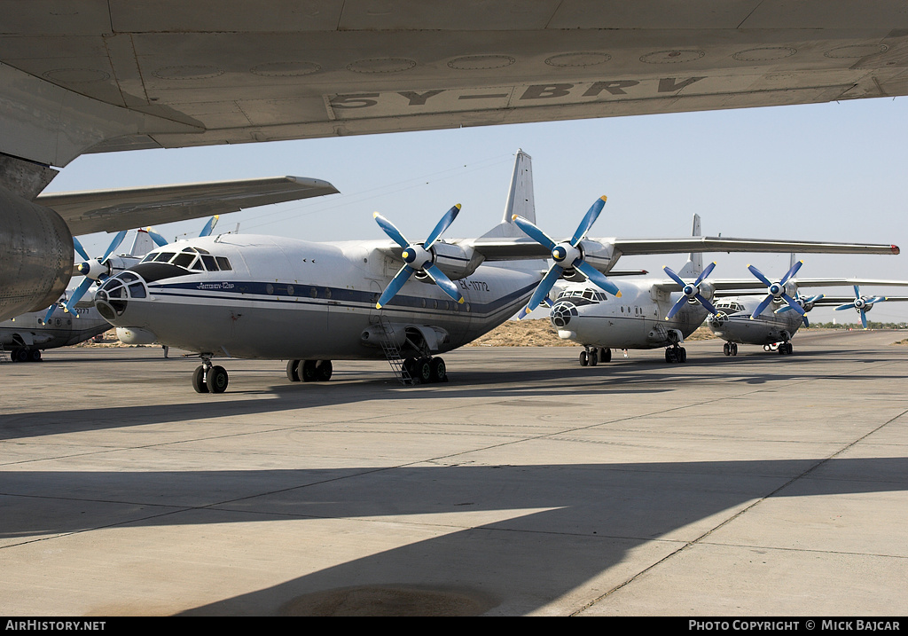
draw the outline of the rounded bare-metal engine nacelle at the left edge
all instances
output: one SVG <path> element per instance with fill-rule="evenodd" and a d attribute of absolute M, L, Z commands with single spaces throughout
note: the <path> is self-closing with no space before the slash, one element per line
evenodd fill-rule
<path fill-rule="evenodd" d="M 59 214 L 0 188 L 0 320 L 56 303 L 72 277 L 73 253 Z"/>

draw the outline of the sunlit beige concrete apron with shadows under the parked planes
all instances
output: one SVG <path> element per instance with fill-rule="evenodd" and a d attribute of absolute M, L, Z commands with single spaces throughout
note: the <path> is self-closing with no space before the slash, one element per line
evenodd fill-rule
<path fill-rule="evenodd" d="M 905 335 L 0 364 L 0 615 L 904 615 Z"/>

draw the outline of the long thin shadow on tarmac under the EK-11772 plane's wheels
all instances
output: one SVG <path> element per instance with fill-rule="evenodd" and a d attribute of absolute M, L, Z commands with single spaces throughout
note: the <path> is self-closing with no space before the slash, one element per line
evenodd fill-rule
<path fill-rule="evenodd" d="M 767 354 L 768 355 L 768 354 Z M 785 360 L 789 356 L 778 356 Z M 775 362 L 775 358 L 773 359 Z M 881 358 L 879 362 L 893 362 Z M 5 415 L 0 426 L 0 441 L 26 437 L 72 433 L 80 431 L 97 431 L 104 428 L 123 428 L 143 426 L 166 422 L 190 422 L 216 417 L 240 417 L 244 415 L 266 414 L 271 412 L 292 411 L 301 408 L 324 406 L 342 406 L 357 402 L 400 400 L 431 401 L 434 399 L 476 398 L 478 393 L 491 399 L 535 399 L 550 398 L 561 400 L 570 394 L 573 400 L 580 400 L 586 395 L 607 393 L 669 393 L 678 388 L 702 387 L 709 383 L 791 383 L 804 382 L 821 378 L 836 377 L 847 383 L 854 383 L 847 393 L 857 393 L 863 385 L 869 386 L 876 380 L 891 379 L 881 374 L 861 373 L 860 375 L 845 372 L 812 373 L 803 366 L 785 366 L 773 363 L 767 370 L 761 366 L 746 364 L 735 366 L 735 373 L 730 373 L 728 363 L 723 360 L 716 363 L 686 363 L 684 368 L 668 366 L 656 360 L 643 360 L 635 363 L 617 363 L 611 367 L 602 367 L 600 373 L 595 368 L 568 367 L 565 369 L 508 369 L 477 371 L 468 369 L 463 372 L 449 372 L 451 380 L 444 384 L 403 387 L 390 377 L 390 372 L 382 370 L 376 373 L 350 373 L 345 380 L 344 373 L 338 373 L 337 379 L 330 383 L 285 383 L 271 385 L 267 389 L 243 390 L 243 384 L 252 384 L 243 380 L 242 370 L 236 373 L 234 384 L 240 388 L 230 389 L 230 393 L 218 396 L 203 395 L 193 402 L 166 404 L 146 403 L 142 405 L 115 406 L 104 405 L 97 408 L 72 408 L 61 411 L 18 412 Z M 853 371 L 853 370 L 852 370 Z M 250 374 L 248 377 L 252 377 Z M 255 375 L 261 375 L 256 372 Z M 260 384 L 261 385 L 261 384 Z M 187 395 L 190 394 L 187 389 Z M 194 395 L 194 393 L 192 393 Z M 793 394 L 796 397 L 796 394 Z M 276 398 L 276 399 L 275 399 Z"/>

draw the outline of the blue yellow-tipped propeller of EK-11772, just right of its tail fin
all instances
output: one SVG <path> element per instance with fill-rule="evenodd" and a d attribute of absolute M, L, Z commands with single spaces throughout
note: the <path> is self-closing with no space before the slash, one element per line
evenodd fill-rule
<path fill-rule="evenodd" d="M 539 304 L 546 299 L 548 292 L 551 291 L 552 286 L 558 281 L 561 275 L 565 273 L 565 270 L 571 268 L 579 270 L 603 291 L 611 293 L 617 298 L 621 297 L 621 292 L 618 291 L 617 286 L 609 281 L 604 273 L 599 272 L 595 267 L 584 260 L 583 250 L 580 246 L 583 239 L 587 237 L 589 229 L 596 223 L 596 219 L 598 218 L 599 213 L 602 212 L 602 208 L 605 204 L 606 197 L 600 196 L 596 200 L 596 203 L 589 208 L 587 215 L 583 217 L 580 224 L 577 225 L 577 232 L 574 233 L 574 236 L 571 237 L 570 241 L 564 241 L 562 243 L 556 243 L 550 239 L 548 234 L 522 216 L 515 214 L 512 217 L 514 223 L 517 224 L 521 230 L 552 253 L 552 259 L 555 261 L 548 269 L 546 275 L 542 277 L 542 281 L 530 297 L 529 303 L 527 303 L 527 307 L 524 310 L 526 313 L 536 309 Z M 524 313 L 524 315 L 526 315 L 526 313 Z"/>

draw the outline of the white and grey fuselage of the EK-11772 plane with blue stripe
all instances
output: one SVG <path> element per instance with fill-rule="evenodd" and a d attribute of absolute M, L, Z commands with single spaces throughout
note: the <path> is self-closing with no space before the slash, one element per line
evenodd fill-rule
<path fill-rule="evenodd" d="M 239 358 L 381 358 L 382 323 L 404 354 L 419 353 L 408 351 L 411 343 L 444 353 L 508 320 L 541 277 L 527 263 L 480 265 L 456 281 L 464 297 L 459 304 L 414 276 L 377 309 L 400 268 L 380 247 L 387 243 L 240 234 L 180 241 L 108 280 L 95 303 L 124 342 Z M 188 269 L 196 253 L 210 254 L 219 268 Z M 185 266 L 155 260 L 179 254 L 186 254 Z"/>

